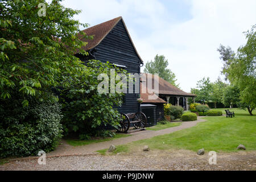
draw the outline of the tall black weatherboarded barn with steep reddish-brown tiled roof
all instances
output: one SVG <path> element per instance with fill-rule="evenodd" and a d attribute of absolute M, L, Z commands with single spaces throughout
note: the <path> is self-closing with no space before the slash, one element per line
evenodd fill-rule
<path fill-rule="evenodd" d="M 121 16 L 90 27 L 84 32 L 87 35 L 93 35 L 94 39 L 85 40 L 85 42 L 88 42 L 85 50 L 90 52 L 91 57 L 79 56 L 81 60 L 96 59 L 104 63 L 109 61 L 113 64 L 125 66 L 123 69 L 126 69 L 128 73 L 140 73 L 140 66 L 143 62 L 130 39 L 129 32 Z M 135 94 L 135 89 L 133 93 L 127 93 L 125 104 L 119 107 L 118 111 L 121 113 L 139 112 L 138 97 L 139 95 Z"/>

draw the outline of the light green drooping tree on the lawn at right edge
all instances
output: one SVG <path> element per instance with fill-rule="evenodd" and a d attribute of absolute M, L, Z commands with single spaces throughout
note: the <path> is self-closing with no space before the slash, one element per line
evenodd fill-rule
<path fill-rule="evenodd" d="M 247 43 L 238 48 L 234 59 L 229 59 L 224 74 L 240 89 L 241 106 L 250 115 L 256 107 L 256 24 L 245 32 Z"/>

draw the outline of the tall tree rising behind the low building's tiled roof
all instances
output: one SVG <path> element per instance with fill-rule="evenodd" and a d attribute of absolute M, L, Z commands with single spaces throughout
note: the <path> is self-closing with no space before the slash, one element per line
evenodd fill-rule
<path fill-rule="evenodd" d="M 163 78 L 164 80 L 170 82 L 172 85 L 179 87 L 179 84 L 176 84 L 176 76 L 171 71 L 171 69 L 167 68 L 168 60 L 164 55 L 156 55 L 154 61 L 147 62 L 145 65 L 144 72 L 155 74 L 158 73 L 159 77 Z"/>

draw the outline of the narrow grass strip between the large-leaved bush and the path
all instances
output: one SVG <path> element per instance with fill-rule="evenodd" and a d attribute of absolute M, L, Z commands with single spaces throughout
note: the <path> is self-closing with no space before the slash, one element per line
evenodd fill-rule
<path fill-rule="evenodd" d="M 114 140 L 117 138 L 130 137 L 130 136 L 131 135 L 128 135 L 128 134 L 117 133 L 113 138 L 105 137 L 105 138 L 98 138 L 98 139 L 92 139 L 92 140 L 66 139 L 66 142 L 71 146 L 84 146 L 86 144 L 105 142 L 105 141 Z"/>

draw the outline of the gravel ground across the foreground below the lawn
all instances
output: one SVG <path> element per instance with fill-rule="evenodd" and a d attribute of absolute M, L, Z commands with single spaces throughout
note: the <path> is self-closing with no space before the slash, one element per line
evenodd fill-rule
<path fill-rule="evenodd" d="M 149 151 L 119 155 L 60 156 L 47 158 L 46 165 L 36 159 L 17 160 L 0 166 L 0 170 L 256 170 L 256 151 L 217 154 L 217 164 L 209 156 L 196 152 Z"/>

